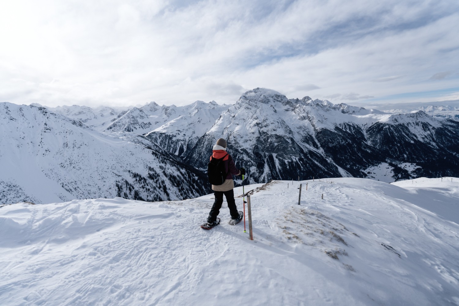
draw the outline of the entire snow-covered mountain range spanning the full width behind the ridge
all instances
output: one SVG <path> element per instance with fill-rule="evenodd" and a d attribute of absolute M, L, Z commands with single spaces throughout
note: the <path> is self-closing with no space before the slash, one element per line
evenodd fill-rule
<path fill-rule="evenodd" d="M 0 203 L 203 195 L 210 188 L 208 156 L 220 137 L 251 184 L 459 176 L 459 122 L 450 117 L 288 99 L 261 88 L 232 106 L 151 102 L 121 110 L 5 102 L 0 132 Z"/>

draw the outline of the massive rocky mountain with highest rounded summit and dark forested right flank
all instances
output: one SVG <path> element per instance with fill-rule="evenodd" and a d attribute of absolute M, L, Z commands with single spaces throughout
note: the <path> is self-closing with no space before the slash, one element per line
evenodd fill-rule
<path fill-rule="evenodd" d="M 384 113 L 254 89 L 183 153 L 185 160 L 204 169 L 201 156 L 220 136 L 238 165 L 249 169 L 252 183 L 336 176 L 393 181 L 459 172 L 459 122 L 424 111 Z"/>

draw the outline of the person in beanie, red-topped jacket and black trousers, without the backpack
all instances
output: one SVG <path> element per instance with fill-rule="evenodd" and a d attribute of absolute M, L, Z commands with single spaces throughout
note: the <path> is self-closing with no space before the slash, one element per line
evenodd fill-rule
<path fill-rule="evenodd" d="M 212 209 L 210 210 L 209 217 L 207 217 L 207 223 L 209 225 L 215 225 L 217 223 L 217 216 L 220 212 L 220 208 L 223 204 L 223 195 L 226 198 L 228 203 L 229 213 L 231 214 L 231 219 L 240 221 L 243 216 L 239 214 L 236 207 L 236 202 L 234 200 L 234 181 L 233 175 L 244 175 L 246 170 L 241 168 L 238 170 L 236 165 L 231 158 L 231 156 L 226 152 L 226 140 L 220 138 L 217 140 L 217 143 L 213 146 L 213 152 L 211 159 L 213 158 L 222 158 L 224 162 L 224 167 L 226 173 L 226 179 L 221 185 L 212 185 L 212 190 L 215 195 L 215 202 L 213 203 Z"/>

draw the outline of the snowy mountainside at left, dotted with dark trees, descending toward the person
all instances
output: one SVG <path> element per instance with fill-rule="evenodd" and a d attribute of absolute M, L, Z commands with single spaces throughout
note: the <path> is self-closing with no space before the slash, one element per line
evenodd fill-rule
<path fill-rule="evenodd" d="M 3 204 L 178 200 L 202 195 L 205 184 L 201 172 L 146 139 L 113 136 L 44 107 L 6 102 L 0 103 L 0 169 Z"/>

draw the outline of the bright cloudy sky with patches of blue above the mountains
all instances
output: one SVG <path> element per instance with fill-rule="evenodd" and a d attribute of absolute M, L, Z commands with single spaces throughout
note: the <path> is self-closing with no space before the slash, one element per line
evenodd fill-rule
<path fill-rule="evenodd" d="M 0 101 L 459 100 L 458 29 L 458 0 L 1 1 Z"/>

